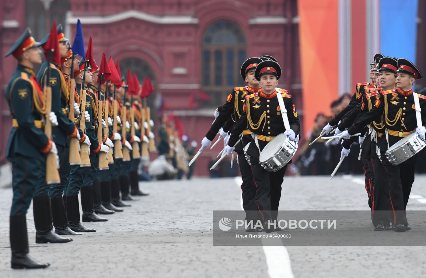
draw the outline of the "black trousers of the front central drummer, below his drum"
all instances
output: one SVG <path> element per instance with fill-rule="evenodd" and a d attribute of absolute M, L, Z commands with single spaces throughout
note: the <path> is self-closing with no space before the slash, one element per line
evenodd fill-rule
<path fill-rule="evenodd" d="M 279 200 L 281 199 L 281 186 L 287 165 L 276 172 L 268 172 L 259 164 L 259 160 L 256 158 L 251 157 L 250 162 L 251 172 L 253 173 L 253 179 L 256 185 L 256 196 L 254 200 L 258 206 L 261 220 L 265 221 L 269 218 L 276 220 L 278 216 Z M 269 213 L 271 213 L 271 215 Z"/>

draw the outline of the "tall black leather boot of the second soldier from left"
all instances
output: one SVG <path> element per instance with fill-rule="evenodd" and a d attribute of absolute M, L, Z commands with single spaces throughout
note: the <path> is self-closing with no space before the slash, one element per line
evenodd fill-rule
<path fill-rule="evenodd" d="M 35 196 L 32 198 L 34 212 L 35 243 L 66 243 L 71 238 L 62 238 L 52 232 L 52 214 L 50 212 L 49 195 Z"/>

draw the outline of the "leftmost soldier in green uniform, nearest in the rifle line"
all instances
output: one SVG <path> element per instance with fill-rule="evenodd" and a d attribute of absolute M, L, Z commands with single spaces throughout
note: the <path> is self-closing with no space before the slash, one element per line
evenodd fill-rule
<path fill-rule="evenodd" d="M 42 129 L 46 111 L 43 93 L 32 69 L 33 65 L 42 62 L 42 52 L 38 46 L 39 43 L 27 28 L 6 54 L 6 57 L 12 54 L 18 61 L 6 88 L 6 101 L 12 115 L 6 158 L 12 162 L 13 199 L 9 237 L 12 249 L 11 266 L 14 269 L 49 266 L 28 255 L 26 227 L 26 212 L 35 190 L 46 183 L 46 154 L 58 153 L 55 143 Z M 53 116 L 55 117 L 54 113 Z M 52 122 L 54 120 L 51 118 Z"/>

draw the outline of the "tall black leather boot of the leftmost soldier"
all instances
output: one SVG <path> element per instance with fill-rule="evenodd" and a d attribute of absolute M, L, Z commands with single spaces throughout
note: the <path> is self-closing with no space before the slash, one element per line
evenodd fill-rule
<path fill-rule="evenodd" d="M 9 225 L 10 248 L 12 249 L 11 267 L 13 269 L 49 267 L 50 264 L 40 263 L 28 255 L 28 234 L 25 214 L 11 215 Z"/>

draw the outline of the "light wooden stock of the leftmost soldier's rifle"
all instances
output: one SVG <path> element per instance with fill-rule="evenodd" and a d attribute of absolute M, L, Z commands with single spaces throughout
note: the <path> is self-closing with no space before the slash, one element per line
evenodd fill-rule
<path fill-rule="evenodd" d="M 46 124 L 44 126 L 44 134 L 52 140 L 52 123 L 49 120 L 49 114 L 52 112 L 52 88 L 44 86 L 43 91 L 46 96 Z M 46 183 L 60 183 L 56 155 L 52 152 L 49 152 L 46 158 Z"/>

